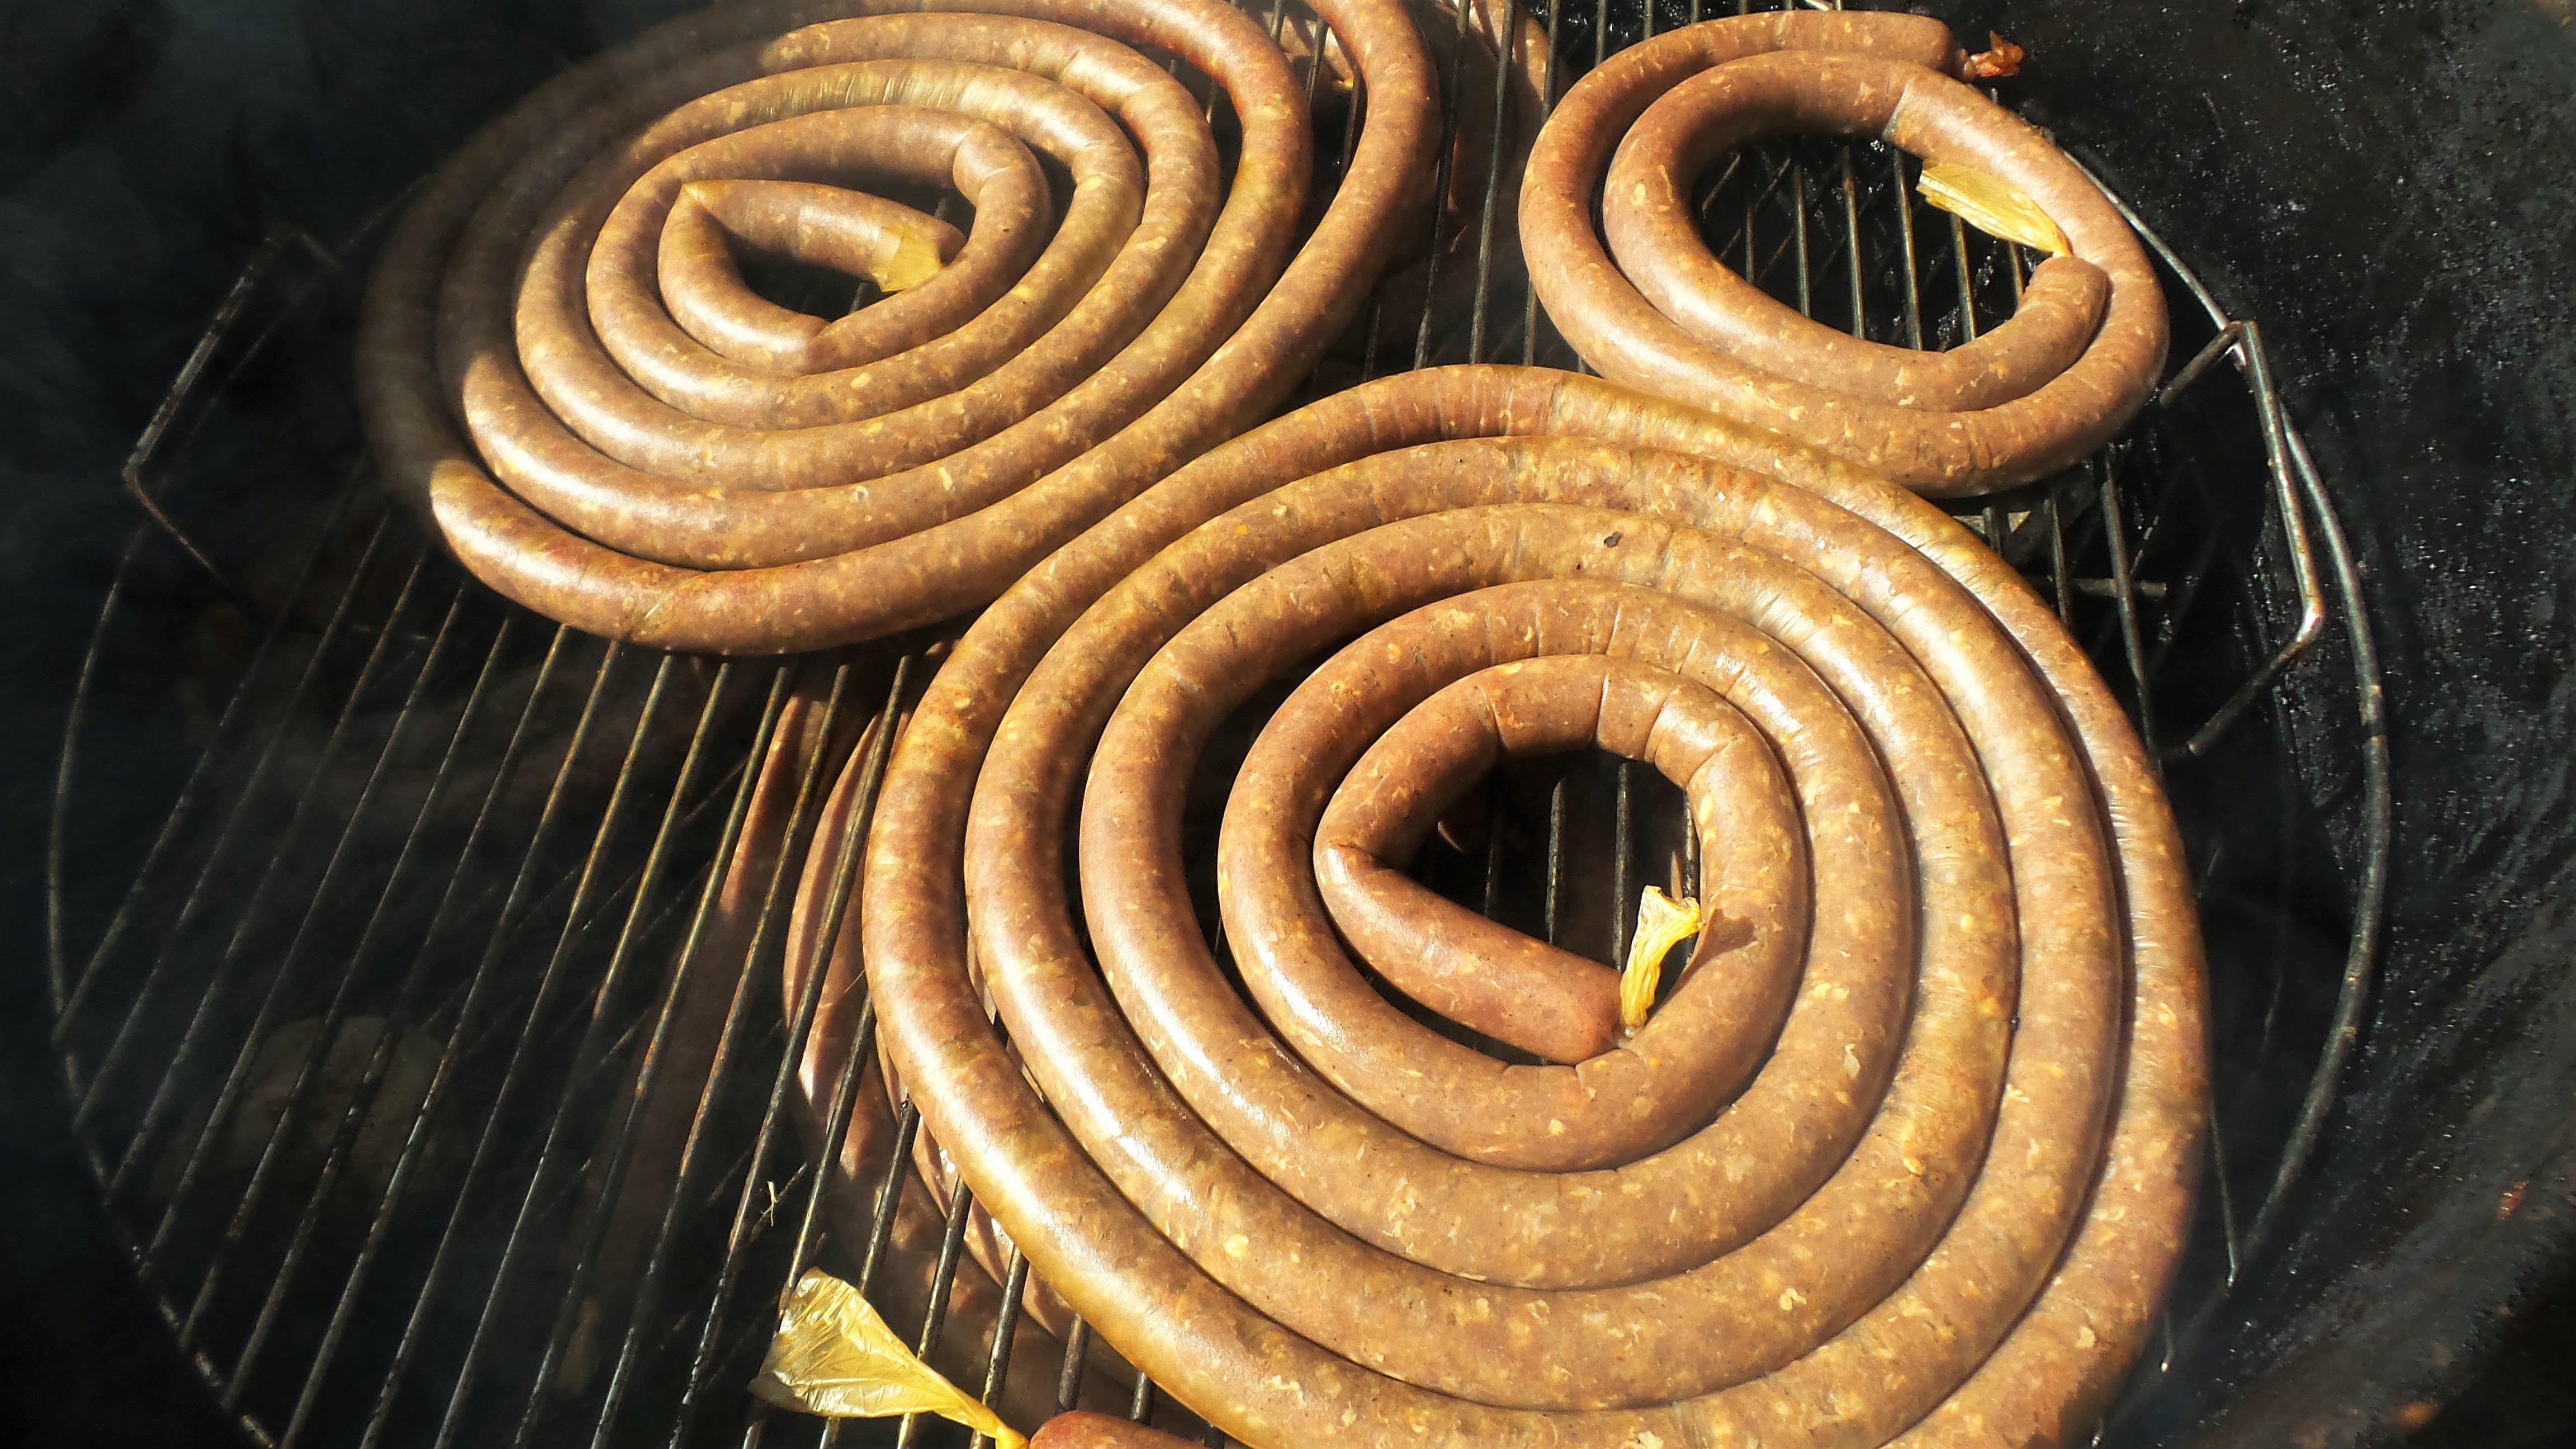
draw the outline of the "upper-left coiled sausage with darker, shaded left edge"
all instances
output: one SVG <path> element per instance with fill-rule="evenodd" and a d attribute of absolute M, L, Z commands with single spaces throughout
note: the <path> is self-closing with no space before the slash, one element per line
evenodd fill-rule
<path fill-rule="evenodd" d="M 755 0 L 567 72 L 386 240 L 358 384 L 389 487 L 500 593 L 618 639 L 783 652 L 984 603 L 1358 312 L 1437 83 L 1399 0 L 1316 13 L 1370 103 L 1303 248 L 1306 93 L 1221 0 Z M 1231 178 L 1208 103 L 1131 46 L 1224 93 Z M 801 315 L 737 253 L 886 297 Z"/>

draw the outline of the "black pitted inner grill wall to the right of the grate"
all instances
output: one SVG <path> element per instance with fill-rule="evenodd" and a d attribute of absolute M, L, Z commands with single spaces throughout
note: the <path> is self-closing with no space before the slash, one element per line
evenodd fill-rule
<path fill-rule="evenodd" d="M 2365 567 L 2396 758 L 2378 1000 L 2257 1330 L 2174 1374 L 2195 1413 L 2239 1400 L 2213 1444 L 2342 1444 L 2447 1397 L 2576 1235 L 2571 5 L 1924 8 L 2027 44 L 2032 119 L 2262 317 Z M 2290 712 L 2352 859 L 2342 717 Z M 2561 1364 L 2563 1318 L 2532 1346 Z"/>

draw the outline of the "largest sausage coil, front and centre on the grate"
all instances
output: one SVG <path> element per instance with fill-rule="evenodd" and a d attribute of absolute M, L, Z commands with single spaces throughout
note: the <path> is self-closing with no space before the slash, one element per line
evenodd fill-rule
<path fill-rule="evenodd" d="M 1314 657 L 1224 812 L 1236 987 L 1182 786 Z M 1685 789 L 1713 926 L 1641 1031 L 1504 1065 L 1352 951 L 1597 972 L 1391 869 L 1577 745 Z M 2110 691 L 1932 505 L 1607 382 L 1394 376 L 1164 480 L 963 634 L 866 851 L 925 1132 L 1260 1449 L 2069 1441 L 2182 1245 L 2200 938 Z"/>

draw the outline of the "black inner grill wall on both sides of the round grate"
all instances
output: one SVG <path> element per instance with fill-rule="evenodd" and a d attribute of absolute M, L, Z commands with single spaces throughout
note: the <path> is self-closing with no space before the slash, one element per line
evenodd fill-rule
<path fill-rule="evenodd" d="M 265 224 L 348 229 L 670 8 L 0 5 L 0 1439 L 222 1441 L 88 1217 L 44 1060 L 44 776 L 131 521 L 116 462 Z M 2030 46 L 2027 111 L 2264 322 L 2362 557 L 2398 781 L 2380 987 L 2249 1328 L 2156 1410 L 2177 1441 L 2385 1439 L 2499 1343 L 2566 1356 L 2566 1312 L 2517 1325 L 2576 1238 L 2576 26 L 2566 0 L 1922 8 Z M 2349 869 L 2339 650 L 2280 709 Z M 2483 1382 L 2566 1395 L 2514 1361 Z M 2566 1431 L 2481 1413 L 2429 1434 Z"/>

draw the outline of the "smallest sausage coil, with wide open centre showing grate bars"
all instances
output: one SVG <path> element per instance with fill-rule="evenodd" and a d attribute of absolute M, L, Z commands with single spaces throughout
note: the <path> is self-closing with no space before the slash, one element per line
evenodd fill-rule
<path fill-rule="evenodd" d="M 1520 237 L 1548 320 L 1602 376 L 1937 498 L 2092 454 L 2156 389 L 2164 297 L 2110 199 L 2048 137 L 1955 80 L 1963 64 L 1940 21 L 1860 10 L 1734 15 L 1618 52 L 1530 150 Z M 2012 320 L 1945 353 L 1803 317 L 1708 253 L 1690 196 L 1741 144 L 1814 131 L 1994 175 L 2071 250 L 2032 271 Z"/>

